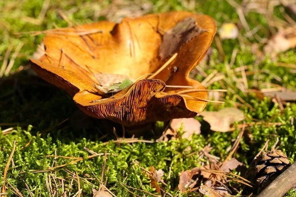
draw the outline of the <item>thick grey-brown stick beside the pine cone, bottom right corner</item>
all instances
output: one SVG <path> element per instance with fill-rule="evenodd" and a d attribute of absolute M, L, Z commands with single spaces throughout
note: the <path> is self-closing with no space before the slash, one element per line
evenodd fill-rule
<path fill-rule="evenodd" d="M 296 185 L 296 162 L 272 181 L 258 197 L 282 197 Z"/>

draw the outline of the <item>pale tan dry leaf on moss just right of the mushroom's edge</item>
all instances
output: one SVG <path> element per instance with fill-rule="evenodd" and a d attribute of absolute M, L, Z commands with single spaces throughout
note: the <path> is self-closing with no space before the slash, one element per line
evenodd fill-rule
<path fill-rule="evenodd" d="M 234 107 L 226 107 L 219 111 L 204 111 L 200 115 L 210 124 L 212 131 L 220 132 L 229 131 L 234 122 L 245 119 L 244 112 Z"/>

